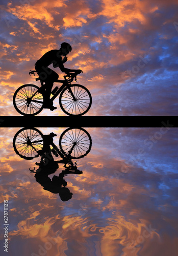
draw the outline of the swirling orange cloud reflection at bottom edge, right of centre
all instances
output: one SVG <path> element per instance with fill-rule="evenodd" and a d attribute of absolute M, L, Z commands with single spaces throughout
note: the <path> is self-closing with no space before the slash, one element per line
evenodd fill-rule
<path fill-rule="evenodd" d="M 116 254 L 116 251 L 120 251 L 120 245 L 122 245 L 122 251 L 124 255 L 134 256 L 138 255 L 138 251 L 144 242 L 144 246 L 150 245 L 152 238 L 159 241 L 159 234 L 156 231 L 147 231 L 145 227 L 149 227 L 146 221 L 141 220 L 141 223 L 133 224 L 130 221 L 126 221 L 123 216 L 115 216 L 115 218 L 109 218 L 108 224 L 105 227 L 99 228 L 99 232 L 103 234 L 100 242 L 100 250 L 102 255 L 120 255 Z M 140 239 L 140 240 L 139 240 Z M 142 240 L 141 240 L 142 239 Z M 116 241 L 119 241 L 116 243 Z M 141 243 L 140 243 L 141 241 Z"/>

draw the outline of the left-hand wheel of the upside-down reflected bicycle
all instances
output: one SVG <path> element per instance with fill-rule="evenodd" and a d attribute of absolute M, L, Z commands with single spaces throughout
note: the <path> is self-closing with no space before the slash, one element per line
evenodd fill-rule
<path fill-rule="evenodd" d="M 43 134 L 36 128 L 19 130 L 13 139 L 15 153 L 24 159 L 38 157 L 43 147 Z"/>

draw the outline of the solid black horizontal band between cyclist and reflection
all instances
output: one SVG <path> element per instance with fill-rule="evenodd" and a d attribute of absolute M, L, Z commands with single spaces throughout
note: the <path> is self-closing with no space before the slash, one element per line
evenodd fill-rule
<path fill-rule="evenodd" d="M 177 116 L 0 116 L 0 127 L 178 127 Z"/>

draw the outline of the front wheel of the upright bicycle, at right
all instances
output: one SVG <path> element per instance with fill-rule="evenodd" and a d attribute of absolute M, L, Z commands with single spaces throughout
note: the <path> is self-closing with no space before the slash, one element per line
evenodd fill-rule
<path fill-rule="evenodd" d="M 80 84 L 73 84 L 70 86 L 70 89 L 72 90 L 75 99 L 73 99 L 68 88 L 64 88 L 59 96 L 59 104 L 62 111 L 69 116 L 82 116 L 86 114 L 92 103 L 90 92 Z"/>

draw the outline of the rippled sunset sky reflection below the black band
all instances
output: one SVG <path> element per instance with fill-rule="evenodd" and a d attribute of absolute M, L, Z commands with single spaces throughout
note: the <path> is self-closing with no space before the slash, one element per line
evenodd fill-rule
<path fill-rule="evenodd" d="M 74 160 L 83 173 L 64 177 L 73 194 L 66 202 L 29 172 L 40 157 L 26 160 L 14 151 L 19 130 L 0 130 L 1 215 L 8 200 L 9 217 L 9 250 L 2 255 L 176 256 L 177 128 L 159 138 L 160 128 L 85 129 L 91 150 Z M 38 130 L 55 133 L 59 147 L 66 129 Z"/>

